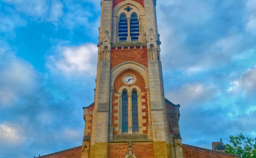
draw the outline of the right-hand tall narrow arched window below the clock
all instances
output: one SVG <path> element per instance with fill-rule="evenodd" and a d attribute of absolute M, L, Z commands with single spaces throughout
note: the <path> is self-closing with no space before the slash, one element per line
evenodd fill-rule
<path fill-rule="evenodd" d="M 138 96 L 137 92 L 133 91 L 131 94 L 132 102 L 132 131 L 139 132 L 139 121 L 138 121 Z"/>

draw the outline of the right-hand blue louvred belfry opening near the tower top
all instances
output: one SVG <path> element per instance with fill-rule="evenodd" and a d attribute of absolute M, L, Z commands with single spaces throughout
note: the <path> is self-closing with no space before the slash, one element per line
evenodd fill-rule
<path fill-rule="evenodd" d="M 140 36 L 140 26 L 139 26 L 138 17 L 136 14 L 131 15 L 130 31 L 131 31 L 131 41 L 138 41 Z"/>

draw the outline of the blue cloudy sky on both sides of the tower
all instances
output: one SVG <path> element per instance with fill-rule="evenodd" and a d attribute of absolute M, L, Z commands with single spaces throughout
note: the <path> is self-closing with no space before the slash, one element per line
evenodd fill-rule
<path fill-rule="evenodd" d="M 256 137 L 256 1 L 158 0 L 157 18 L 183 143 Z M 99 21 L 99 0 L 0 0 L 0 158 L 82 144 Z"/>

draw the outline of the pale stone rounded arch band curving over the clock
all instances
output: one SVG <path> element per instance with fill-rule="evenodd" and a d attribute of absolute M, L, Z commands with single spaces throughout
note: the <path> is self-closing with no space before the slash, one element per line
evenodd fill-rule
<path fill-rule="evenodd" d="M 119 65 L 117 65 L 116 67 L 114 67 L 111 70 L 111 74 L 110 74 L 110 85 L 111 87 L 114 86 L 114 83 L 117 79 L 117 77 L 119 77 L 122 73 L 124 73 L 125 71 L 134 71 L 135 73 L 138 73 L 145 81 L 145 85 L 149 85 L 148 82 L 148 69 L 137 63 L 137 62 L 123 62 Z"/>

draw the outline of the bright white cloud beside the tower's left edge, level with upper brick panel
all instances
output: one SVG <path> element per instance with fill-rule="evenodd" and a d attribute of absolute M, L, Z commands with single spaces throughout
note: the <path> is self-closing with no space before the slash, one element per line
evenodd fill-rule
<path fill-rule="evenodd" d="M 58 47 L 57 54 L 49 56 L 51 71 L 65 75 L 95 75 L 98 48 L 95 44 Z"/>

